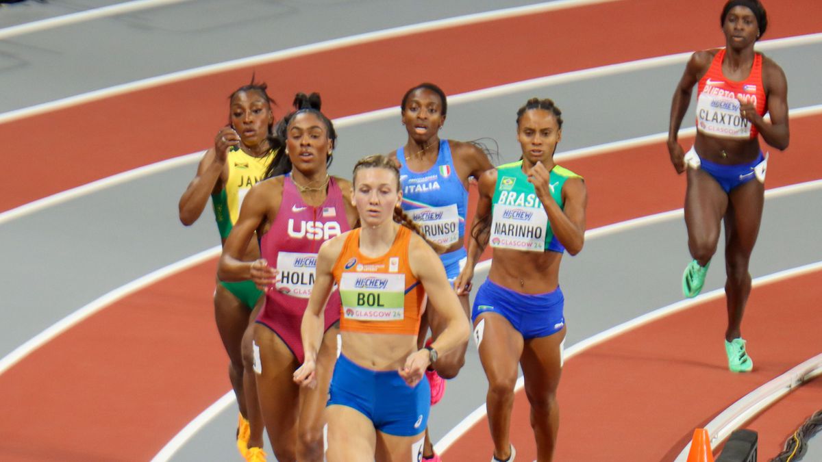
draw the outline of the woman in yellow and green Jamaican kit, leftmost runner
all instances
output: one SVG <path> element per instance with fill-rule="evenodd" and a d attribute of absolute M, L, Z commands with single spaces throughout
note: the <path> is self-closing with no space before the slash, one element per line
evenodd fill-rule
<path fill-rule="evenodd" d="M 180 221 L 186 226 L 200 218 L 211 197 L 223 243 L 237 222 L 243 198 L 252 185 L 264 177 L 281 145 L 272 130 L 274 114 L 266 88 L 265 83 L 252 81 L 231 94 L 229 125 L 219 130 L 214 147 L 205 152 L 195 178 L 180 197 Z M 248 243 L 243 254 L 249 259 L 260 256 L 256 239 Z M 261 295 L 250 280 L 218 280 L 214 293 L 217 330 L 229 353 L 229 378 L 240 408 L 237 446 L 243 457 L 249 446 L 260 448 L 263 444 L 263 422 L 251 370 L 249 328 L 262 306 L 258 303 Z"/>

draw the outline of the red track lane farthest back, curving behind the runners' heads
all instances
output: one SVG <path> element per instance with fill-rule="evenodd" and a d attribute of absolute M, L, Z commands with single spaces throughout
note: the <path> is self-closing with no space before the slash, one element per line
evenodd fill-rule
<path fill-rule="evenodd" d="M 768 7 L 778 19 L 767 39 L 822 31 L 816 0 Z M 296 91 L 316 90 L 336 118 L 395 107 L 420 81 L 435 80 L 454 95 L 721 46 L 721 39 L 715 0 L 621 0 L 352 45 L 92 101 L 0 123 L 0 139 L 25 146 L 15 169 L 0 169 L 0 184 L 14 192 L 0 196 L 0 210 L 203 150 L 225 123 L 226 98 L 252 72 L 274 89 L 280 113 Z M 547 44 L 546 53 L 535 56 L 533 44 Z"/>

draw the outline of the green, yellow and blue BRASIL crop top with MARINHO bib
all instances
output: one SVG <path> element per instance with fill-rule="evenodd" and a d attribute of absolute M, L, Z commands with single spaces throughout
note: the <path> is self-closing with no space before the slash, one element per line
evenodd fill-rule
<path fill-rule="evenodd" d="M 562 187 L 568 178 L 582 178 L 569 169 L 554 166 L 548 180 L 551 196 L 561 209 Z M 496 187 L 491 202 L 491 246 L 530 252 L 565 252 L 548 223 L 543 203 L 522 171 L 522 160 L 496 168 Z"/>

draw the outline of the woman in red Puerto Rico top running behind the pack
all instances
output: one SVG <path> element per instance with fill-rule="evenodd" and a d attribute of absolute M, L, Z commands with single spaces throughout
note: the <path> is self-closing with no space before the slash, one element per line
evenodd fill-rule
<path fill-rule="evenodd" d="M 787 81 L 781 67 L 754 50 L 768 25 L 758 0 L 730 0 L 719 20 L 725 48 L 691 55 L 673 95 L 667 146 L 677 173 L 687 171 L 685 224 L 694 260 L 682 275 L 682 292 L 695 297 L 702 290 L 723 222 L 725 353 L 731 371 L 750 372 L 754 362 L 741 323 L 750 295 L 748 265 L 762 221 L 768 161 L 757 133 L 770 146 L 787 148 Z M 697 84 L 696 139 L 685 153 L 677 132 Z M 765 113 L 770 122 L 764 121 Z"/>

